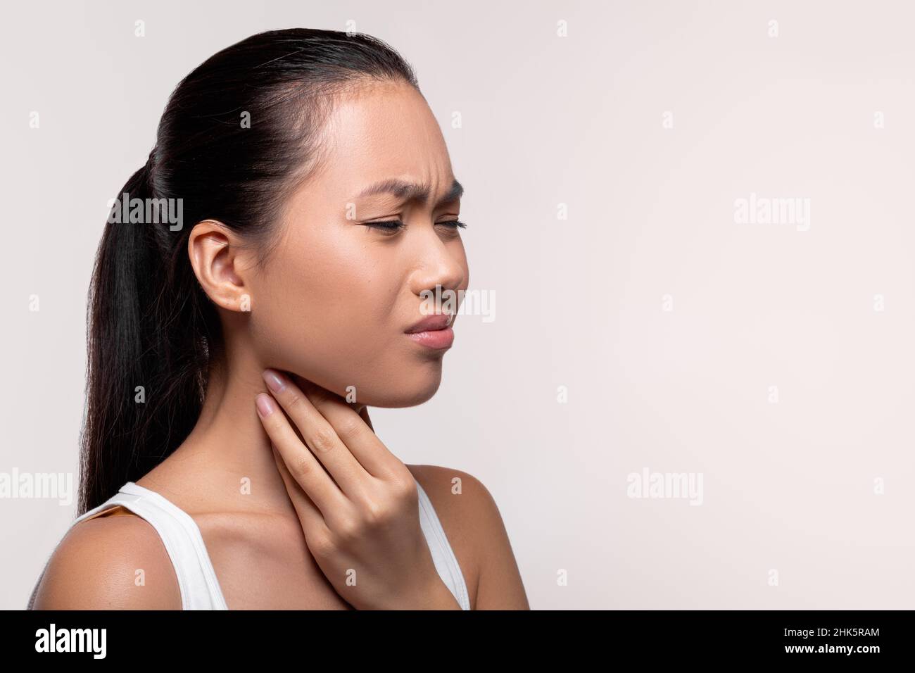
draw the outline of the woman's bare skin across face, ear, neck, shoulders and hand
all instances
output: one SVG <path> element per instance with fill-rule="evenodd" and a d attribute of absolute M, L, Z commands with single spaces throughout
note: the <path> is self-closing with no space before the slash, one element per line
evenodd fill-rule
<path fill-rule="evenodd" d="M 372 83 L 339 100 L 324 134 L 328 160 L 289 197 L 276 231 L 279 244 L 265 265 L 221 223 L 197 223 L 192 230 L 188 257 L 220 310 L 226 357 L 213 365 L 188 439 L 136 483 L 197 523 L 230 609 L 457 609 L 428 549 L 417 544 L 425 537 L 404 488 L 412 475 L 454 549 L 471 608 L 529 609 L 486 487 L 467 472 L 404 465 L 396 448 L 371 430 L 366 408 L 414 406 L 435 394 L 445 351 L 415 343 L 404 330 L 424 318 L 423 290 L 468 287 L 460 233 L 447 224 L 458 220 L 460 201 L 441 201 L 454 174 L 435 116 L 408 85 Z M 386 179 L 426 185 L 429 197 L 358 197 Z M 366 226 L 395 219 L 406 224 L 402 231 Z M 250 310 L 242 310 L 245 299 Z M 255 406 L 256 396 L 269 389 L 268 368 L 291 374 L 293 386 L 285 399 L 271 394 L 284 408 L 274 413 L 273 427 Z M 358 403 L 339 397 L 347 386 L 355 386 Z M 292 411 L 286 408 L 291 390 L 300 393 Z M 281 421 L 285 429 L 277 434 Z M 334 450 L 316 455 L 301 438 L 319 429 Z M 308 481 L 302 470 L 308 457 L 319 470 L 312 477 L 328 481 Z M 329 490 L 333 464 L 356 475 L 336 493 Z M 452 494 L 455 478 L 460 494 Z M 250 493 L 242 492 L 242 480 Z M 377 511 L 387 514 L 365 516 Z M 371 526 L 379 520 L 394 525 Z M 319 523 L 359 534 L 334 537 L 335 544 L 319 546 L 316 559 Z M 360 592 L 340 583 L 340 570 L 354 565 L 365 578 Z M 137 569 L 145 573 L 141 586 Z M 116 507 L 70 528 L 50 559 L 35 607 L 180 609 L 181 602 L 155 529 Z"/>

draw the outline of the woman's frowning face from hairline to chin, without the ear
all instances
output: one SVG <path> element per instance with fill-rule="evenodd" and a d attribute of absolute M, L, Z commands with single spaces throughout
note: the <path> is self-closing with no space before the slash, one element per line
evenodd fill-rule
<path fill-rule="evenodd" d="M 421 404 L 441 380 L 447 333 L 423 342 L 407 331 L 430 318 L 424 291 L 440 285 L 444 301 L 468 287 L 449 224 L 460 196 L 445 139 L 423 96 L 402 83 L 343 98 L 324 132 L 326 163 L 292 196 L 279 244 L 251 279 L 255 348 L 269 366 L 341 396 L 354 386 L 350 401 Z M 428 195 L 363 193 L 391 180 Z M 370 226 L 391 221 L 404 227 Z"/>

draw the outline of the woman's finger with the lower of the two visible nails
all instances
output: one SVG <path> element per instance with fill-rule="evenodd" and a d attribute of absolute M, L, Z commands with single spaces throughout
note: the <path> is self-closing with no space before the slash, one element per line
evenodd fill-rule
<path fill-rule="evenodd" d="M 346 496 L 324 471 L 318 459 L 298 439 L 274 398 L 261 393 L 255 401 L 257 416 L 296 483 L 308 494 L 312 502 L 318 505 L 323 514 L 339 510 L 345 503 Z"/>

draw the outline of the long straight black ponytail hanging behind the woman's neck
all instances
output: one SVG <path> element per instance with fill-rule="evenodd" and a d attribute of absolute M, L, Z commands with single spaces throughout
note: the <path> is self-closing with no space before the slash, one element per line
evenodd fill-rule
<path fill-rule="evenodd" d="M 118 193 L 92 271 L 79 515 L 163 461 L 202 406 L 199 337 L 209 331 L 188 314 L 197 301 L 176 293 L 200 290 L 181 282 L 164 255 L 173 247 L 168 237 L 182 233 L 171 232 L 167 218 L 135 222 L 116 212 L 135 200 L 156 207 L 154 163 L 155 150 Z"/>

